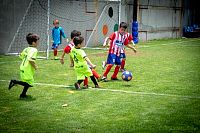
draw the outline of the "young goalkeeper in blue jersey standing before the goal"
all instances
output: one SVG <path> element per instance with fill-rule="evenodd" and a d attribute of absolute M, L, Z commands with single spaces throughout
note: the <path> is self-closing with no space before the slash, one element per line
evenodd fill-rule
<path fill-rule="evenodd" d="M 59 26 L 59 21 L 56 19 L 53 21 L 54 28 L 52 29 L 52 49 L 54 50 L 54 59 L 58 59 L 58 46 L 62 43 L 62 37 L 66 38 L 64 30 Z M 67 39 L 68 42 L 68 39 Z"/>

